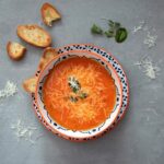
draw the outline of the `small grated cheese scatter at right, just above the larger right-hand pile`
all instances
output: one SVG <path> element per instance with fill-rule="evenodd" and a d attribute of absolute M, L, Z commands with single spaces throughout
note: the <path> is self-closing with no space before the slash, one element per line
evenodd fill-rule
<path fill-rule="evenodd" d="M 150 32 L 148 32 L 147 37 L 143 40 L 144 45 L 148 45 L 149 48 L 152 48 L 156 45 L 157 35 L 151 35 Z"/>

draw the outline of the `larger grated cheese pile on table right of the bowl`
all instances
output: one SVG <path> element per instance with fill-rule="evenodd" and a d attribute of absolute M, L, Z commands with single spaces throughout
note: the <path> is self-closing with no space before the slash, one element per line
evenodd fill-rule
<path fill-rule="evenodd" d="M 154 66 L 150 58 L 144 58 L 141 61 L 136 62 L 134 65 L 138 66 L 139 69 L 142 69 L 145 75 L 152 80 L 156 78 L 160 71 L 160 68 L 157 66 Z"/>

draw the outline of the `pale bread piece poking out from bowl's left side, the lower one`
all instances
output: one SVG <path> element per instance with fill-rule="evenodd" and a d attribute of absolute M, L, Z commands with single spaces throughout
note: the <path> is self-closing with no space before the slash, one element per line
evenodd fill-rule
<path fill-rule="evenodd" d="M 37 77 L 30 78 L 23 82 L 23 87 L 28 93 L 35 93 Z"/>

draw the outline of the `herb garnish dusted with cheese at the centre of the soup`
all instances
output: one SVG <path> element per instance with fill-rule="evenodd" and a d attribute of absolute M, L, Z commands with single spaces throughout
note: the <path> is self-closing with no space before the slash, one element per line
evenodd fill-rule
<path fill-rule="evenodd" d="M 73 103 L 80 99 L 84 99 L 87 97 L 87 94 L 81 91 L 81 84 L 74 77 L 69 77 L 68 84 L 71 87 L 72 92 L 75 93 L 75 96 L 69 96 L 69 99 Z"/>

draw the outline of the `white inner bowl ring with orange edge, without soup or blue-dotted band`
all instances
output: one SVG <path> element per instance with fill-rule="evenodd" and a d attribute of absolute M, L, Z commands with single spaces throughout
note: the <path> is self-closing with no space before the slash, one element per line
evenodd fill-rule
<path fill-rule="evenodd" d="M 63 60 L 67 60 L 69 58 L 73 58 L 77 56 L 90 58 L 92 60 L 97 61 L 99 65 L 102 65 L 108 71 L 108 73 L 112 75 L 112 78 L 114 79 L 115 85 L 117 89 L 115 107 L 114 107 L 113 112 L 110 113 L 110 115 L 108 116 L 108 118 L 103 124 L 101 124 L 99 126 L 97 126 L 93 129 L 80 130 L 80 131 L 67 129 L 67 128 L 60 126 L 58 122 L 56 122 L 56 120 L 54 120 L 50 117 L 50 115 L 48 114 L 48 112 L 44 105 L 44 102 L 43 102 L 43 85 L 44 85 L 44 82 L 45 82 L 47 75 L 49 74 L 50 70 L 54 67 L 56 67 L 56 65 L 58 65 L 59 62 L 62 62 Z M 69 140 L 84 141 L 84 140 L 93 139 L 93 138 L 101 136 L 102 133 L 107 131 L 107 129 L 109 129 L 113 126 L 114 121 L 117 119 L 117 117 L 119 115 L 119 112 L 120 112 L 120 108 L 122 105 L 122 85 L 121 85 L 120 79 L 118 77 L 118 73 L 114 69 L 113 65 L 107 62 L 104 58 L 102 58 L 101 56 L 97 56 L 96 54 L 93 54 L 91 51 L 71 50 L 69 52 L 58 55 L 39 73 L 37 87 L 36 87 L 36 92 L 35 92 L 35 98 L 36 98 L 35 99 L 36 106 L 39 110 L 42 118 L 44 119 L 44 124 L 48 125 L 48 129 L 50 131 L 52 131 L 54 133 L 56 133 L 59 137 L 62 137 L 62 138 L 66 138 Z"/>

